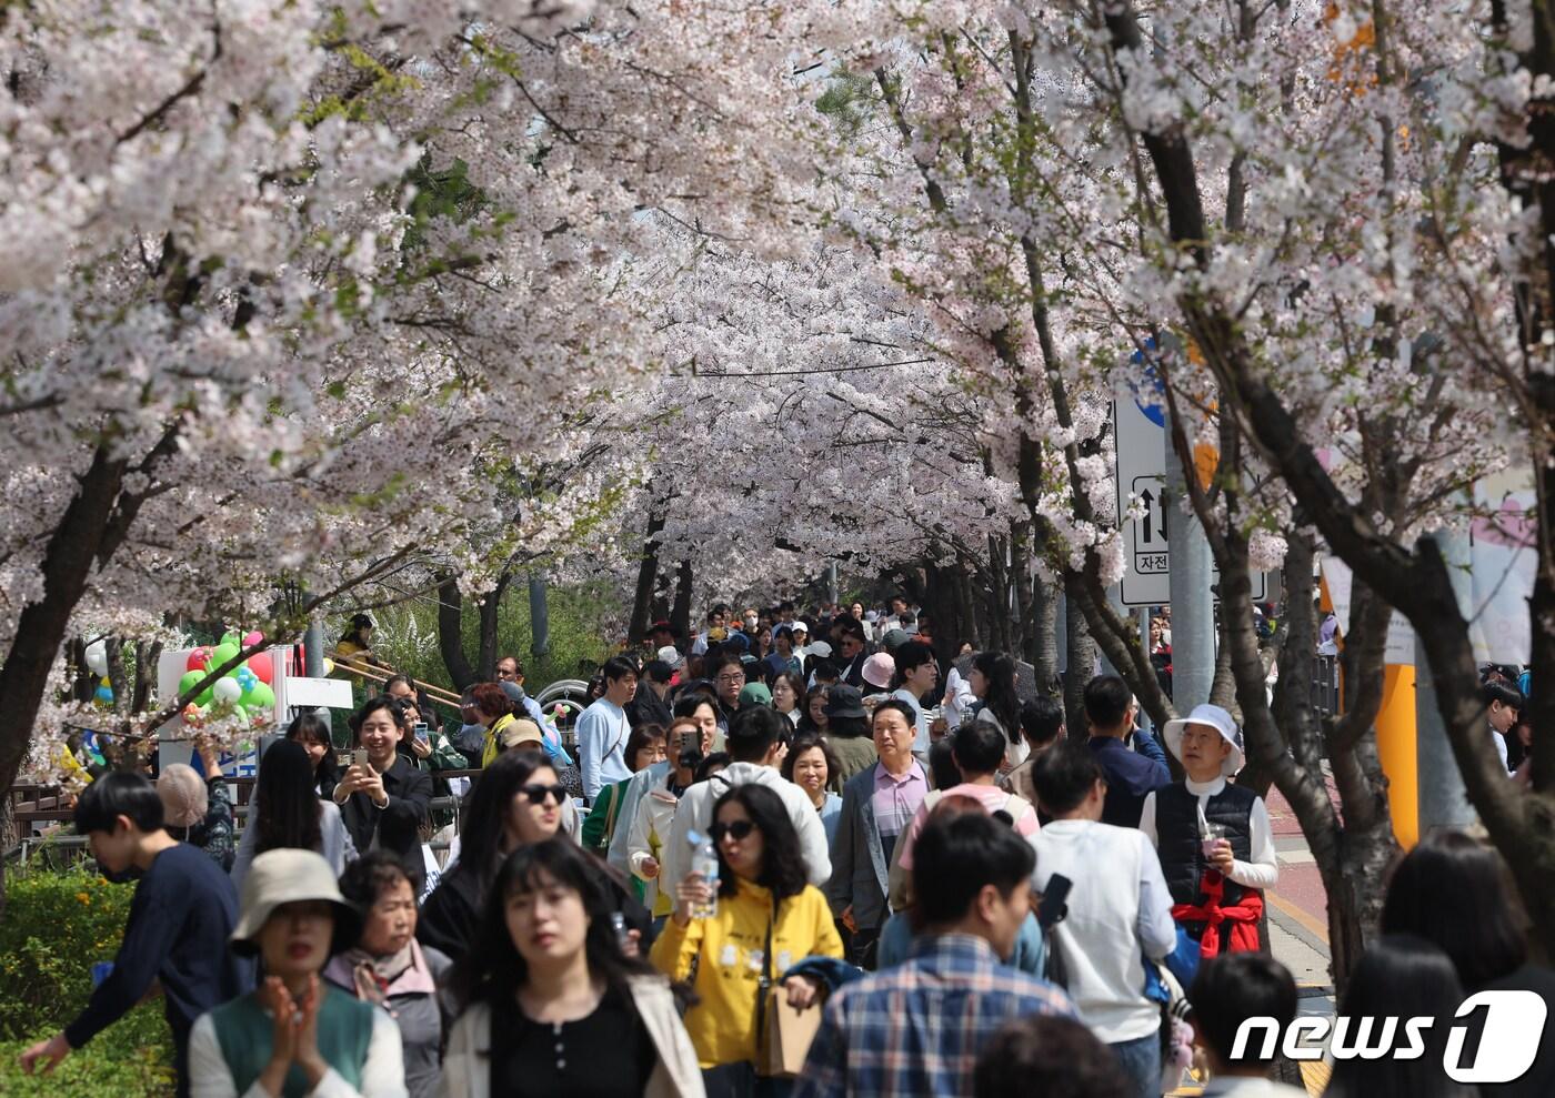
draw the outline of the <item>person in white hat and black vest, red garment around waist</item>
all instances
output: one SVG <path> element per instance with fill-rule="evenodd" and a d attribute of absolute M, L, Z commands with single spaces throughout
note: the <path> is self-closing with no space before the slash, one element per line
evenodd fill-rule
<path fill-rule="evenodd" d="M 1227 782 L 1247 762 L 1242 733 L 1225 709 L 1200 705 L 1168 720 L 1163 739 L 1186 779 L 1144 799 L 1140 830 L 1160 854 L 1172 918 L 1204 956 L 1255 952 L 1280 866 L 1263 798 Z"/>

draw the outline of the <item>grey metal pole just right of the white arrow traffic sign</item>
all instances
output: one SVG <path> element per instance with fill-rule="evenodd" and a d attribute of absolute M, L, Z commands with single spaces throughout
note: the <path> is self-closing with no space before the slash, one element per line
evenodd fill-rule
<path fill-rule="evenodd" d="M 1171 445 L 1172 425 L 1166 420 L 1166 549 L 1171 554 L 1171 684 L 1177 712 L 1188 712 L 1210 700 L 1214 686 L 1214 596 L 1210 593 L 1213 568 L 1210 543 L 1191 509 L 1186 474 Z"/>

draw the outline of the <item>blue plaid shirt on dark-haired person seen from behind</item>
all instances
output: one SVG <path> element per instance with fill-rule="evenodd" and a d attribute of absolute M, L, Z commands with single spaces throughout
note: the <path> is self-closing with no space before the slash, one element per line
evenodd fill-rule
<path fill-rule="evenodd" d="M 900 967 L 832 995 L 795 1098 L 963 1098 L 983 1044 L 1031 1014 L 1076 1017 L 1059 988 L 1000 964 L 984 939 L 919 938 Z"/>

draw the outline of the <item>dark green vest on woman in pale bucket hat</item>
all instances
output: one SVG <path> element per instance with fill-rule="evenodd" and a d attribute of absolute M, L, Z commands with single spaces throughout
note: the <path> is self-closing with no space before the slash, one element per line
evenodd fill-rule
<path fill-rule="evenodd" d="M 355 1090 L 361 1090 L 376 1008 L 322 980 L 319 991 L 323 994 L 323 1005 L 319 1008 L 319 1054 Z M 255 994 L 218 1006 L 210 1019 L 216 1028 L 221 1058 L 232 1072 L 232 1082 L 239 1095 L 246 1093 L 271 1062 L 275 1020 L 264 1012 Z M 308 1076 L 292 1064 L 281 1095 L 303 1098 L 306 1093 Z"/>

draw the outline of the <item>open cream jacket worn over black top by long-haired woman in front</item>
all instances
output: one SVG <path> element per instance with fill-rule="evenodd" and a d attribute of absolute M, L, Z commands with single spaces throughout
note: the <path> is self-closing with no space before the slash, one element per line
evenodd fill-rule
<path fill-rule="evenodd" d="M 631 1005 L 658 1051 L 644 1098 L 706 1098 L 697 1050 L 675 1009 L 669 983 L 662 977 L 631 977 Z M 490 1006 L 476 1003 L 459 1016 L 448 1036 L 437 1098 L 491 1098 L 490 1037 Z"/>

